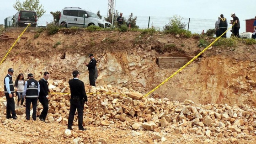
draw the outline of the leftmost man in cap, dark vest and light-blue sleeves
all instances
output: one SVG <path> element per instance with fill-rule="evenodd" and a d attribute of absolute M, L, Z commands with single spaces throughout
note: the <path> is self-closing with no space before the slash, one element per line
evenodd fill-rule
<path fill-rule="evenodd" d="M 8 69 L 8 74 L 5 76 L 4 87 L 5 87 L 5 97 L 6 97 L 6 118 L 17 119 L 15 112 L 15 102 L 13 96 L 15 96 L 14 85 L 12 81 L 13 69 Z"/>

